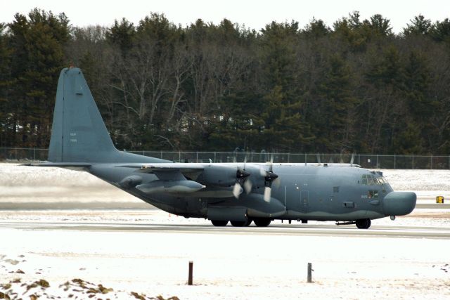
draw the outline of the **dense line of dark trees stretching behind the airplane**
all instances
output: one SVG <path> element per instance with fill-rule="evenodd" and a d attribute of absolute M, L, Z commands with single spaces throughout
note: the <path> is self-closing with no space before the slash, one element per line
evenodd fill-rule
<path fill-rule="evenodd" d="M 0 24 L 0 145 L 47 147 L 60 69 L 81 67 L 117 148 L 448 154 L 450 20 L 328 27 L 224 19 Z"/>

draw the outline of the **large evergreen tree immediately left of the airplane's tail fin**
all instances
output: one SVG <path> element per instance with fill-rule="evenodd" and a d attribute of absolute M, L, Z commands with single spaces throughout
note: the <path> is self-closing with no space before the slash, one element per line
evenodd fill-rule
<path fill-rule="evenodd" d="M 55 84 L 65 67 L 64 46 L 69 40 L 69 21 L 61 13 L 34 8 L 16 14 L 9 24 L 13 47 L 15 115 L 23 146 L 49 145 L 56 94 Z"/>

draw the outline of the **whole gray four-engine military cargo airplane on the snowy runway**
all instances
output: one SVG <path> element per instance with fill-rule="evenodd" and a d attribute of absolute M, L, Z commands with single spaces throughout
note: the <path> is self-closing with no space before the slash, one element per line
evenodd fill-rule
<path fill-rule="evenodd" d="M 380 171 L 355 164 L 176 163 L 115 148 L 79 68 L 60 72 L 48 162 L 87 171 L 171 214 L 214 226 L 273 220 L 371 220 L 409 214 L 416 194 L 394 192 Z"/>

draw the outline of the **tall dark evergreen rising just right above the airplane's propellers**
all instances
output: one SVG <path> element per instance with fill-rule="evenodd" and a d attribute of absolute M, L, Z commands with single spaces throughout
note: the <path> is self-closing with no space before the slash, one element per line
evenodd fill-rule
<path fill-rule="evenodd" d="M 269 150 L 299 149 L 310 143 L 307 124 L 302 120 L 302 98 L 299 89 L 296 44 L 297 22 L 276 23 L 262 30 L 260 63 L 264 141 Z"/>

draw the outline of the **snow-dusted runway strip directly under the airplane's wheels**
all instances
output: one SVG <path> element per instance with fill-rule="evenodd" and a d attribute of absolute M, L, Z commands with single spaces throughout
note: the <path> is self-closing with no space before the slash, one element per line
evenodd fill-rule
<path fill-rule="evenodd" d="M 136 233 L 191 233 L 213 235 L 325 235 L 346 237 L 410 237 L 450 239 L 450 228 L 427 226 L 372 226 L 361 230 L 352 226 L 335 225 L 279 225 L 273 224 L 261 228 L 248 226 L 236 228 L 232 226 L 215 227 L 203 224 L 130 224 L 130 223 L 79 223 L 79 222 L 0 222 L 0 228 L 19 230 L 79 230 L 101 232 L 136 232 Z"/>

